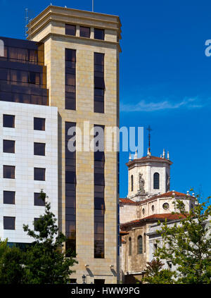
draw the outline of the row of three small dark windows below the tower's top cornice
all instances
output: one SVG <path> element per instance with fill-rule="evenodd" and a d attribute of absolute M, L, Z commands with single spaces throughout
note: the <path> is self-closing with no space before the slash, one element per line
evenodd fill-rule
<path fill-rule="evenodd" d="M 79 28 L 79 36 L 90 38 L 90 27 L 80 26 Z M 65 35 L 76 35 L 76 26 L 65 24 Z M 105 39 L 105 31 L 103 29 L 94 28 L 94 39 Z"/>

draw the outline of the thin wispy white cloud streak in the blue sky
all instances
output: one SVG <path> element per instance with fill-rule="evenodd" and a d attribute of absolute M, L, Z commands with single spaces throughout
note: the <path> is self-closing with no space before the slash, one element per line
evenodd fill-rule
<path fill-rule="evenodd" d="M 202 108 L 203 106 L 198 103 L 197 98 L 184 98 L 180 102 L 172 102 L 169 100 L 164 101 L 146 101 L 141 100 L 137 104 L 121 104 L 121 111 L 134 112 L 134 111 L 143 111 L 143 112 L 153 112 L 161 110 L 172 110 L 177 108 Z"/>

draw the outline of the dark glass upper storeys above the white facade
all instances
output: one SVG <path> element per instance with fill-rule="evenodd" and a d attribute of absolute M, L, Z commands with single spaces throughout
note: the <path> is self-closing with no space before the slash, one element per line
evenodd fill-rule
<path fill-rule="evenodd" d="M 4 57 L 0 57 L 0 101 L 48 105 L 44 44 L 2 39 Z"/>

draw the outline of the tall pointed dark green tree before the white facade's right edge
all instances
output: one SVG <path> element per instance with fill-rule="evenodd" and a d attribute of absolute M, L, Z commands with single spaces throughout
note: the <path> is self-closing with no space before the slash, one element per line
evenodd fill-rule
<path fill-rule="evenodd" d="M 40 197 L 46 199 L 46 194 L 41 191 Z M 75 272 L 70 268 L 77 261 L 75 252 L 63 250 L 66 237 L 58 232 L 56 218 L 51 212 L 51 204 L 46 202 L 44 216 L 40 216 L 34 222 L 34 230 L 30 230 L 28 225 L 23 225 L 23 229 L 27 235 L 34 238 L 32 246 L 26 253 L 26 283 L 68 283 L 70 274 Z M 65 256 L 66 253 L 68 257 Z"/>

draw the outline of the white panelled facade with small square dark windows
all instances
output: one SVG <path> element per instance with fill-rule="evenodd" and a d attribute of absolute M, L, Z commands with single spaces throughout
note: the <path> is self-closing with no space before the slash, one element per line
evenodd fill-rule
<path fill-rule="evenodd" d="M 0 237 L 9 243 L 30 243 L 33 239 L 23 224 L 34 229 L 34 218 L 44 213 L 44 206 L 34 206 L 34 193 L 42 189 L 58 217 L 58 108 L 0 101 L 0 111 Z M 14 116 L 13 128 L 4 127 L 4 115 Z M 34 118 L 45 119 L 44 130 L 34 130 Z M 5 140 L 15 141 L 15 153 L 5 152 Z M 34 143 L 45 144 L 44 156 L 34 155 Z M 12 178 L 4 178 L 10 172 L 4 166 L 15 167 Z M 34 168 L 42 169 L 44 180 L 34 180 Z M 15 199 L 8 204 L 6 194 L 11 192 Z"/>

